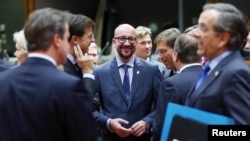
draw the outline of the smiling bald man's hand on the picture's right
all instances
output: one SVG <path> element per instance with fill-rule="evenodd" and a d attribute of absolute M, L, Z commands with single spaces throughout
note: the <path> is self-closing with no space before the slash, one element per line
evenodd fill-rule
<path fill-rule="evenodd" d="M 139 137 L 147 131 L 148 125 L 145 121 L 140 120 L 134 123 L 131 126 L 131 130 L 133 131 L 133 135 Z"/>

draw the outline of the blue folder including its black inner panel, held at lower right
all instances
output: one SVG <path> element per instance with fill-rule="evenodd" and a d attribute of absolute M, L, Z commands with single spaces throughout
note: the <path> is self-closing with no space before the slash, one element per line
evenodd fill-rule
<path fill-rule="evenodd" d="M 181 124 L 179 124 L 178 121 L 181 122 Z M 170 136 L 171 128 L 173 129 L 173 131 L 171 131 L 172 134 L 175 134 L 176 132 L 174 131 L 176 128 L 190 126 L 190 123 L 193 125 L 193 128 L 196 128 L 195 130 L 200 129 L 200 131 L 195 131 L 190 127 L 183 131 L 190 132 L 189 134 L 191 135 L 193 134 L 191 132 L 197 132 L 197 134 L 200 132 L 199 134 L 204 134 L 204 132 L 207 131 L 207 125 L 233 125 L 235 124 L 235 121 L 232 118 L 224 115 L 219 115 L 170 102 L 166 108 L 160 141 L 172 141 L 172 139 L 170 139 L 170 137 L 173 138 Z M 179 130 L 178 134 L 182 134 L 181 130 Z"/>

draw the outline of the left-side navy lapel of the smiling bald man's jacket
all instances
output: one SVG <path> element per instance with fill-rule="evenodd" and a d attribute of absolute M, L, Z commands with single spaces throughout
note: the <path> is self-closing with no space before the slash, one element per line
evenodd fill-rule
<path fill-rule="evenodd" d="M 128 102 L 127 102 L 127 99 L 126 99 L 124 91 L 123 91 L 123 86 L 122 86 L 121 76 L 119 73 L 119 68 L 117 66 L 117 62 L 116 62 L 115 58 L 112 60 L 112 62 L 110 64 L 110 73 L 111 73 L 112 79 L 113 79 L 116 87 L 119 90 L 119 94 L 121 95 L 123 101 L 128 106 Z"/>

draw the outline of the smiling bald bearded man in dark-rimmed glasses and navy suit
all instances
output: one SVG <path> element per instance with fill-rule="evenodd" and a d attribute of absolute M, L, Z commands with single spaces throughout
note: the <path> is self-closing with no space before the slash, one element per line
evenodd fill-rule
<path fill-rule="evenodd" d="M 117 56 L 95 69 L 102 111 L 94 112 L 94 116 L 102 129 L 103 141 L 150 140 L 152 105 L 156 103 L 162 75 L 156 64 L 133 55 L 135 36 L 133 26 L 119 25 L 112 39 Z M 128 72 L 123 69 L 124 65 L 128 66 Z M 125 84 L 129 90 L 123 89 Z"/>

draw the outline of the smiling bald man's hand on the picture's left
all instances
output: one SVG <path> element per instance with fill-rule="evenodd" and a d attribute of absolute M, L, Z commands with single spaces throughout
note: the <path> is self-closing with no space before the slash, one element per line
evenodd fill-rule
<path fill-rule="evenodd" d="M 109 122 L 109 127 L 120 137 L 127 137 L 132 133 L 131 129 L 127 129 L 122 127 L 122 124 L 128 124 L 129 122 L 121 119 L 121 118 L 116 118 L 116 119 L 111 119 Z"/>

